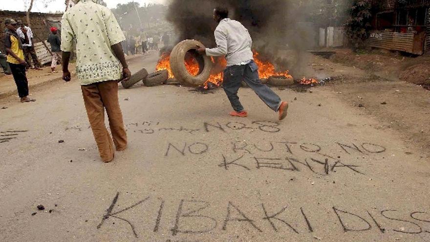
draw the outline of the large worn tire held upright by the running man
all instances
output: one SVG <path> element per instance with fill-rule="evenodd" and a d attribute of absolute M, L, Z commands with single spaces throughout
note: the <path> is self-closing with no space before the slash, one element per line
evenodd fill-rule
<path fill-rule="evenodd" d="M 179 82 L 187 82 L 195 86 L 203 85 L 211 75 L 212 60 L 208 56 L 199 55 L 196 51 L 197 45 L 204 47 L 196 40 L 185 40 L 177 44 L 170 54 L 170 66 L 174 77 Z M 185 58 L 193 57 L 199 66 L 196 76 L 190 74 L 184 64 Z"/>

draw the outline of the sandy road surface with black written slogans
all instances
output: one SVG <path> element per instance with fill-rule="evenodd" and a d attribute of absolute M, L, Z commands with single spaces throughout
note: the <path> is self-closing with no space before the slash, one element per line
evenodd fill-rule
<path fill-rule="evenodd" d="M 130 67 L 151 71 L 156 60 Z M 12 139 L 0 143 L 0 240 L 430 241 L 428 149 L 352 99 L 366 92 L 359 77 L 369 89 L 394 84 L 336 65 L 309 64 L 338 76 L 329 86 L 274 89 L 291 105 L 282 122 L 249 88 L 239 91 L 243 119 L 226 115 L 222 89 L 120 89 L 129 149 L 108 164 L 76 80 L 33 90 L 35 103 L 1 100 L 0 131 Z"/>

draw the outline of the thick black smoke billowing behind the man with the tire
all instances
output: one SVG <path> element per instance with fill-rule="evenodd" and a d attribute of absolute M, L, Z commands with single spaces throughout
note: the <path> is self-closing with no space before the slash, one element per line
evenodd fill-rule
<path fill-rule="evenodd" d="M 287 0 L 172 0 L 167 20 L 178 31 L 179 41 L 195 39 L 214 47 L 217 22 L 212 17 L 216 6 L 227 6 L 229 17 L 248 28 L 254 47 L 263 57 L 273 58 L 273 52 L 286 44 Z"/>

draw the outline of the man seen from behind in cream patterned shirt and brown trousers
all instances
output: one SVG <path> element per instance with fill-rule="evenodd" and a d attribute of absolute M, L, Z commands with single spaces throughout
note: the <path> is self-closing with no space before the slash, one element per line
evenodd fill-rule
<path fill-rule="evenodd" d="M 76 74 L 94 138 L 104 162 L 113 160 L 115 149 L 127 148 L 127 133 L 118 101 L 118 82 L 129 80 L 131 73 L 121 42 L 125 36 L 113 13 L 92 0 L 78 3 L 62 19 L 63 79 L 70 81 L 68 64 L 76 40 Z M 105 109 L 109 127 L 105 126 Z"/>

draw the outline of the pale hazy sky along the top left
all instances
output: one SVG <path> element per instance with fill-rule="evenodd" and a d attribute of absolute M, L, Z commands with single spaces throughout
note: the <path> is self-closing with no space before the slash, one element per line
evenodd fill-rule
<path fill-rule="evenodd" d="M 48 6 L 45 8 L 43 2 L 50 2 Z M 132 0 L 105 0 L 108 4 L 109 8 L 114 8 L 118 3 L 127 3 Z M 140 4 L 146 3 L 165 3 L 166 0 L 134 0 L 135 2 L 139 2 Z M 28 3 L 29 0 L 0 0 L 0 9 L 1 10 L 12 10 L 12 11 L 25 11 L 25 3 Z M 34 0 L 33 10 L 32 12 L 56 12 L 56 11 L 64 11 L 65 5 L 64 0 Z M 28 5 L 28 4 L 27 4 Z"/>

